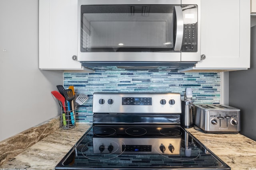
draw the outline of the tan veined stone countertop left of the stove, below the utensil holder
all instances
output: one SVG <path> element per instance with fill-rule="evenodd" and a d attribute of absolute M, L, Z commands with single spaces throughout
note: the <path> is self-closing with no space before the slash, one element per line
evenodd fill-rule
<path fill-rule="evenodd" d="M 0 170 L 54 170 L 56 164 L 68 153 L 90 127 L 76 124 L 72 129 L 58 128 L 38 143 L 28 147 L 0 166 Z"/>

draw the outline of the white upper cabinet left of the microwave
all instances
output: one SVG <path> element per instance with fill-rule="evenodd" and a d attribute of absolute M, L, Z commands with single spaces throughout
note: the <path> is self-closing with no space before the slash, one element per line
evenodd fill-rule
<path fill-rule="evenodd" d="M 39 68 L 82 69 L 77 56 L 77 0 L 39 0 Z"/>

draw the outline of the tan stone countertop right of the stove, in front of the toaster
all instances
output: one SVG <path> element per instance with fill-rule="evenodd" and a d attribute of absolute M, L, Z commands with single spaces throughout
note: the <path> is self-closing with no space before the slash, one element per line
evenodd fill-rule
<path fill-rule="evenodd" d="M 256 170 L 256 141 L 241 134 L 211 134 L 187 129 L 232 170 Z"/>

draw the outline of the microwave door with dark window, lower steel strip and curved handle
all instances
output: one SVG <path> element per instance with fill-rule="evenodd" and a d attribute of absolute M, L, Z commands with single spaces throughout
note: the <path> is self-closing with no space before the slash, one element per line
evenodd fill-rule
<path fill-rule="evenodd" d="M 180 4 L 80 4 L 78 61 L 180 62 Z"/>

